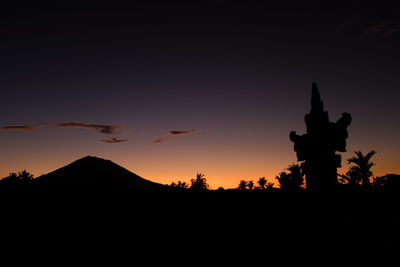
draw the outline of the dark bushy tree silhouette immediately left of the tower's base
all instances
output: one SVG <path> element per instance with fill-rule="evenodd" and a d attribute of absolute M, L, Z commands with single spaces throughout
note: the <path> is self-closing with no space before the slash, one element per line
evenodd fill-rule
<path fill-rule="evenodd" d="M 281 172 L 275 179 L 278 180 L 280 188 L 282 190 L 294 191 L 301 189 L 304 183 L 304 173 L 301 170 L 300 165 L 292 164 L 287 170 L 289 173 Z"/>

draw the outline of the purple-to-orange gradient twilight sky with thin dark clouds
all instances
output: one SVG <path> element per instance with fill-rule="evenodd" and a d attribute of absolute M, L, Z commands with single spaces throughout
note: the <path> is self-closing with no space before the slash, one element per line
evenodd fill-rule
<path fill-rule="evenodd" d="M 2 7 L 0 177 L 93 155 L 160 183 L 274 182 L 312 82 L 332 121 L 352 114 L 342 157 L 400 173 L 395 1 L 126 2 Z"/>

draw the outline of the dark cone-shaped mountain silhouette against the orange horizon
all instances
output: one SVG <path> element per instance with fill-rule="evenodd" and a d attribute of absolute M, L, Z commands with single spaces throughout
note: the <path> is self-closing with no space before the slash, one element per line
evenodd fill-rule
<path fill-rule="evenodd" d="M 127 169 L 93 156 L 81 158 L 71 164 L 34 179 L 37 185 L 94 187 L 127 190 L 162 190 L 167 186 L 146 180 Z"/>

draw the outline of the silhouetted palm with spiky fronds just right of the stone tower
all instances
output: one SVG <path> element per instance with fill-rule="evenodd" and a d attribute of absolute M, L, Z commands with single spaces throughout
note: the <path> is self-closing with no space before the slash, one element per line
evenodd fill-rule
<path fill-rule="evenodd" d="M 355 151 L 355 157 L 351 157 L 347 160 L 348 164 L 354 164 L 350 167 L 349 171 L 345 175 L 341 175 L 341 181 L 348 184 L 362 184 L 364 186 L 370 185 L 370 178 L 372 177 L 371 168 L 375 165 L 371 162 L 372 156 L 376 154 L 376 151 L 372 150 L 363 155 L 361 151 Z"/>

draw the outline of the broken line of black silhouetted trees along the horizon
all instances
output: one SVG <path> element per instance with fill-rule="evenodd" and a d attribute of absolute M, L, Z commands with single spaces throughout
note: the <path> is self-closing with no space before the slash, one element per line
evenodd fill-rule
<path fill-rule="evenodd" d="M 350 164 L 349 170 L 345 174 L 338 175 L 338 185 L 342 188 L 361 189 L 361 190 L 388 190 L 400 191 L 400 175 L 386 174 L 375 177 L 372 167 L 375 163 L 371 158 L 376 154 L 372 150 L 367 154 L 361 151 L 355 151 L 355 156 L 347 159 Z M 29 184 L 34 176 L 26 170 L 21 172 L 12 172 L 7 177 L 0 180 L 0 184 Z M 237 191 L 302 191 L 305 190 L 305 174 L 299 164 L 290 165 L 285 171 L 275 176 L 275 183 L 269 182 L 265 177 L 260 177 L 256 182 L 253 180 L 240 180 L 238 186 L 234 189 Z M 203 173 L 197 173 L 190 183 L 177 181 L 169 184 L 174 191 L 194 191 L 202 192 L 211 190 L 210 185 Z M 219 187 L 217 191 L 225 190 Z"/>

